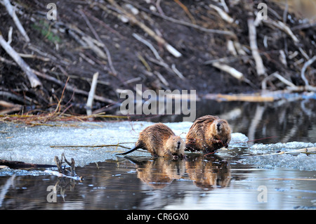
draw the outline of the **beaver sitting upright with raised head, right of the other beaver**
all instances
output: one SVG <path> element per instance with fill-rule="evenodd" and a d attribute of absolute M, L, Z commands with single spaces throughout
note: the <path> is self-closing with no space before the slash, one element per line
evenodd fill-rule
<path fill-rule="evenodd" d="M 228 147 L 230 134 L 230 126 L 224 119 L 211 115 L 199 117 L 187 133 L 186 150 L 215 152 Z"/>

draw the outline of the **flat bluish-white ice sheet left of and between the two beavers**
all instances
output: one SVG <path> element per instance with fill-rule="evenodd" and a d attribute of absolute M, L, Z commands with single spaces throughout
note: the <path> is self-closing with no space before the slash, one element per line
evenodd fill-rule
<path fill-rule="evenodd" d="M 57 124 L 57 123 L 54 123 Z M 76 147 L 79 145 L 116 145 L 124 143 L 133 147 L 138 133 L 150 126 L 146 121 L 121 122 L 67 122 L 62 126 L 34 126 L 0 124 L 0 159 L 17 160 L 36 164 L 54 164 L 53 158 L 62 152 L 67 158 L 73 157 L 76 164 L 84 166 L 91 162 L 100 162 L 115 158 L 121 147 Z M 192 123 L 170 123 L 173 131 L 185 138 L 183 130 L 190 129 Z M 51 146 L 73 145 L 73 147 Z M 136 152 L 142 153 L 142 152 Z M 144 153 L 143 153 L 144 154 Z"/>

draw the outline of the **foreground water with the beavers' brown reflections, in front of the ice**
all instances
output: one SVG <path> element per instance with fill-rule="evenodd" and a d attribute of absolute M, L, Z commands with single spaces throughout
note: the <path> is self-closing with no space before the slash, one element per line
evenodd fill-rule
<path fill-rule="evenodd" d="M 55 202 L 55 176 L 2 176 L 1 209 L 315 209 L 315 172 L 193 157 L 88 164 L 82 182 L 59 180 Z"/>

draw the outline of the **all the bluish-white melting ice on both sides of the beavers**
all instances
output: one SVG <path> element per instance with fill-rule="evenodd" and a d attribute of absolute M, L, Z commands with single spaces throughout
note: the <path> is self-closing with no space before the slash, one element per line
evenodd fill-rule
<path fill-rule="evenodd" d="M 147 121 L 111 121 L 111 122 L 67 122 L 53 123 L 59 126 L 29 127 L 17 124 L 0 124 L 0 159 L 18 160 L 36 164 L 55 164 L 55 155 L 62 152 L 67 158 L 73 157 L 77 166 L 91 162 L 101 162 L 114 159 L 115 153 L 124 152 L 121 147 L 92 147 L 93 145 L 116 145 L 124 143 L 133 147 L 138 133 L 153 124 Z M 60 126 L 61 125 L 61 126 Z M 173 131 L 185 138 L 192 122 L 166 123 Z M 296 150 L 302 147 L 315 147 L 316 143 L 277 143 L 254 144 L 249 147 L 248 138 L 242 133 L 232 133 L 230 149 L 244 150 L 245 154 L 254 155 L 240 161 L 246 164 L 256 164 L 265 167 L 289 167 L 293 169 L 316 169 L 315 154 L 282 154 L 276 156 L 258 157 L 276 151 Z M 51 146 L 71 147 L 51 147 Z M 86 145 L 88 147 L 76 147 Z M 149 155 L 145 152 L 133 152 L 135 155 Z M 220 153 L 219 153 L 220 154 Z M 234 156 L 232 154 L 232 156 Z"/>

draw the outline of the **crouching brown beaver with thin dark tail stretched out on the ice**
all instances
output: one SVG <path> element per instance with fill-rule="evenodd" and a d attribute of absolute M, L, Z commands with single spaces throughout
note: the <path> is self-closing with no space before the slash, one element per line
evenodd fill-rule
<path fill-rule="evenodd" d="M 165 124 L 152 124 L 140 132 L 135 147 L 128 152 L 119 154 L 129 154 L 137 149 L 147 150 L 156 157 L 185 157 L 185 142 L 176 136 Z"/>

